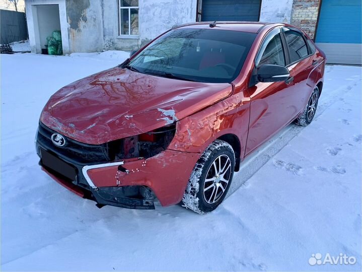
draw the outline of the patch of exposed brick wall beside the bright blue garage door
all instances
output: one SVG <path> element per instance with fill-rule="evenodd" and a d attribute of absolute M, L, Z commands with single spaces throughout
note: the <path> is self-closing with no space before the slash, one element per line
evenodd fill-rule
<path fill-rule="evenodd" d="M 303 29 L 314 39 L 320 0 L 294 0 L 291 24 Z"/>

